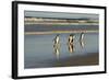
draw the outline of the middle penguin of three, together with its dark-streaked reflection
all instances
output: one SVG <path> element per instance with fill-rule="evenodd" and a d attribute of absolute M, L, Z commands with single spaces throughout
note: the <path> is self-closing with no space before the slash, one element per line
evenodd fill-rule
<path fill-rule="evenodd" d="M 70 53 L 74 52 L 74 38 L 75 38 L 75 35 L 73 35 L 73 34 L 69 35 L 68 47 L 69 47 Z"/>

